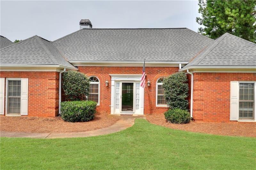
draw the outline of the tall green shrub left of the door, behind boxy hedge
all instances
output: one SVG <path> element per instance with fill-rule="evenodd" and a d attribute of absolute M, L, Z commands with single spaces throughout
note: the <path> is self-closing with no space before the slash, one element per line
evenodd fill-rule
<path fill-rule="evenodd" d="M 67 71 L 62 76 L 62 88 L 67 100 L 86 100 L 90 81 L 83 73 Z"/>

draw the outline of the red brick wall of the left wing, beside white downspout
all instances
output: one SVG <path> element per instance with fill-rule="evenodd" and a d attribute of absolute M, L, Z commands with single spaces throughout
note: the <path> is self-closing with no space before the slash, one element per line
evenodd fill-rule
<path fill-rule="evenodd" d="M 59 73 L 58 72 L 3 72 L 2 71 L 0 72 L 0 77 L 1 78 L 28 78 L 28 116 L 55 117 L 58 115 L 58 112 L 59 112 Z"/>

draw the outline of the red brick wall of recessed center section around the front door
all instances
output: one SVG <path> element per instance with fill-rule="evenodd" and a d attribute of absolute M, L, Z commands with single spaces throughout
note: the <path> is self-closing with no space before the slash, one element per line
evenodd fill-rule
<path fill-rule="evenodd" d="M 142 67 L 105 67 L 105 66 L 78 66 L 79 71 L 87 76 L 97 76 L 100 79 L 100 106 L 98 112 L 110 113 L 111 104 L 111 77 L 109 74 L 141 74 Z M 164 113 L 167 107 L 156 107 L 156 81 L 158 78 L 178 72 L 179 67 L 146 67 L 146 82 L 151 82 L 144 91 L 144 114 Z M 108 80 L 108 87 L 105 81 Z"/>

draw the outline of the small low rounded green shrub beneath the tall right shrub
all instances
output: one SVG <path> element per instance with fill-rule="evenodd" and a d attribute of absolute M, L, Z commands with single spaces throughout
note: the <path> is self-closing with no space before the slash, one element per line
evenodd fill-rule
<path fill-rule="evenodd" d="M 185 124 L 190 122 L 190 114 L 186 110 L 169 109 L 164 113 L 165 119 L 169 123 Z"/>

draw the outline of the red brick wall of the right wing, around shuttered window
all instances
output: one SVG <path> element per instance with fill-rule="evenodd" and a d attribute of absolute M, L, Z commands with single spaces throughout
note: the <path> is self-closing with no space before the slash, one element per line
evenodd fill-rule
<path fill-rule="evenodd" d="M 195 120 L 230 121 L 230 81 L 256 81 L 256 73 L 194 73 Z"/>

